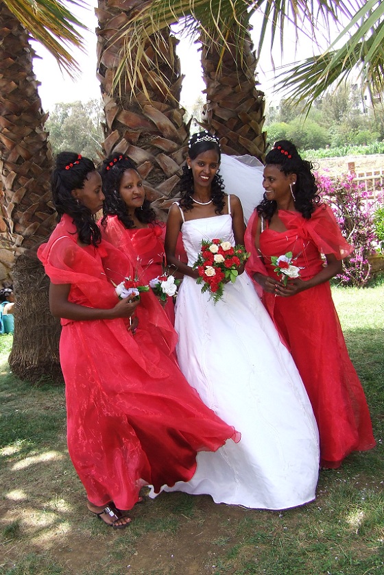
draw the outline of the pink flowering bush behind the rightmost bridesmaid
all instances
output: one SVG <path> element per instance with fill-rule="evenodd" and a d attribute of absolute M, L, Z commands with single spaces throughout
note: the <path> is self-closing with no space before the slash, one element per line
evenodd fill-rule
<path fill-rule="evenodd" d="M 373 202 L 367 204 L 367 193 L 350 173 L 337 178 L 317 174 L 316 182 L 320 196 L 333 210 L 341 234 L 355 248 L 343 261 L 343 271 L 337 279 L 341 285 L 363 287 L 370 279 L 368 256 L 374 254 L 377 245 Z"/>

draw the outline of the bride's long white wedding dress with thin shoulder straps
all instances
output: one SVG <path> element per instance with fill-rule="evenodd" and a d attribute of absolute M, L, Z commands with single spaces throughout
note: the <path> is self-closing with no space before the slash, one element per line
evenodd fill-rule
<path fill-rule="evenodd" d="M 202 239 L 234 245 L 232 218 L 182 224 L 193 265 Z M 176 304 L 178 360 L 206 405 L 241 432 L 215 453 L 197 455 L 188 483 L 165 491 L 208 493 L 215 502 L 285 509 L 315 498 L 319 443 L 315 418 L 293 360 L 246 273 L 216 305 L 184 277 Z"/>

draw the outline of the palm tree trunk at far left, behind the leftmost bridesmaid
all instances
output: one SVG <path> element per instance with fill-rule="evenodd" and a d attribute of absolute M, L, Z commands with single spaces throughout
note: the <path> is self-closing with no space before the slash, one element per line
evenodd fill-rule
<path fill-rule="evenodd" d="M 43 266 L 28 255 L 55 223 L 52 154 L 33 73 L 34 51 L 25 28 L 1 1 L 0 35 L 0 236 L 14 258 L 8 257 L 8 270 L 13 268 L 16 297 L 10 365 L 17 376 L 36 381 L 58 374 L 58 322 L 49 314 Z"/>

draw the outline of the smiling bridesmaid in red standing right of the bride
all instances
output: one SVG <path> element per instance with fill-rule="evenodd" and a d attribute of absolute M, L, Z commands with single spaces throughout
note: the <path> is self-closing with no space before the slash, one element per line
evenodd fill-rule
<path fill-rule="evenodd" d="M 291 142 L 274 145 L 265 158 L 264 199 L 248 222 L 245 245 L 251 252 L 248 273 L 263 289 L 263 302 L 311 400 L 321 465 L 335 468 L 375 441 L 329 284 L 353 248 L 331 208 L 320 203 L 311 169 Z"/>

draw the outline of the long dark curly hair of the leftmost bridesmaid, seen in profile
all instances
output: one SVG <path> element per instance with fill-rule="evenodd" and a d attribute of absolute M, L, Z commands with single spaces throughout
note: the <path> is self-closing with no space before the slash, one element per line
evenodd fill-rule
<path fill-rule="evenodd" d="M 73 219 L 79 240 L 86 245 L 97 247 L 101 242 L 101 232 L 91 210 L 79 204 L 71 192 L 83 188 L 88 174 L 95 171 L 95 164 L 73 151 L 62 151 L 56 156 L 56 164 L 51 175 L 53 204 L 58 212 L 58 221 L 67 214 Z"/>

